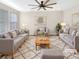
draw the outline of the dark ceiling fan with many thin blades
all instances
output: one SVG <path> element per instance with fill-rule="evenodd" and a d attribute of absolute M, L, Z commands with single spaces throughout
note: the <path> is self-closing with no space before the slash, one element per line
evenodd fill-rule
<path fill-rule="evenodd" d="M 53 7 L 50 7 L 51 5 L 55 5 L 55 4 L 57 4 L 57 3 L 50 3 L 50 4 L 48 4 L 48 2 L 50 1 L 50 0 L 46 0 L 46 1 L 41 1 L 41 2 L 39 2 L 38 0 L 35 0 L 36 1 L 36 3 L 38 4 L 38 5 L 32 5 L 32 4 L 30 4 L 29 6 L 35 6 L 35 7 L 33 7 L 32 9 L 36 9 L 36 8 L 38 8 L 37 10 L 40 10 L 41 8 L 43 8 L 44 10 L 46 10 L 46 8 L 53 8 Z"/>

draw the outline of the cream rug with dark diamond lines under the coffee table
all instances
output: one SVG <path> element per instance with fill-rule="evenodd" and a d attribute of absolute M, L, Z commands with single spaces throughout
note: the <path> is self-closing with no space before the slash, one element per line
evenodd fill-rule
<path fill-rule="evenodd" d="M 64 53 L 65 59 L 79 59 L 79 53 L 74 54 L 68 45 L 65 45 L 57 36 L 50 37 L 51 48 L 61 49 Z M 23 44 L 23 46 L 14 54 L 14 59 L 41 59 L 42 49 L 48 48 L 35 48 L 35 37 L 31 36 Z M 70 52 L 71 51 L 71 52 Z M 1 59 L 11 59 L 11 56 L 3 56 Z"/>

